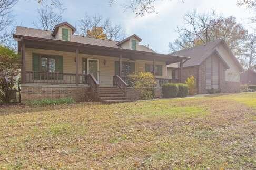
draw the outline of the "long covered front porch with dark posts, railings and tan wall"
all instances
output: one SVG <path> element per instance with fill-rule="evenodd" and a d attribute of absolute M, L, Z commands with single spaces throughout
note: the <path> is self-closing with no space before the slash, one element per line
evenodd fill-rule
<path fill-rule="evenodd" d="M 134 63 L 134 72 L 152 72 L 155 75 L 157 86 L 163 83 L 179 83 L 181 79 L 181 71 L 183 63 L 188 60 L 187 57 L 179 57 L 173 55 L 163 55 L 153 52 L 136 51 L 128 49 L 117 49 L 105 46 L 80 44 L 77 42 L 66 42 L 53 39 L 35 38 L 35 37 L 15 37 L 18 39 L 18 50 L 22 54 L 22 84 L 89 84 L 90 86 L 117 86 L 118 82 L 124 82 L 129 85 L 127 73 L 130 72 Z M 46 51 L 45 55 L 44 50 Z M 47 69 L 31 69 L 33 65 L 31 58 L 28 57 L 29 52 L 38 54 L 40 60 L 42 57 L 48 56 Z M 51 51 L 54 51 L 55 58 L 51 57 Z M 60 52 L 60 54 L 58 54 Z M 57 58 L 63 52 L 67 52 L 68 59 Z M 55 55 L 57 54 L 57 55 Z M 54 60 L 56 68 L 51 70 L 51 60 Z M 62 67 L 56 63 L 63 62 Z M 56 63 L 55 63 L 56 62 Z M 170 63 L 180 62 L 178 69 L 178 77 L 175 79 L 167 76 L 166 65 Z M 24 64 L 26 63 L 26 64 Z M 118 67 L 116 67 L 118 63 Z M 145 67 L 152 66 L 151 69 L 145 70 Z M 157 65 L 162 66 L 162 75 L 157 75 Z M 129 67 L 128 67 L 129 66 Z M 70 67 L 68 70 L 66 67 Z M 40 66 L 41 68 L 41 66 Z M 118 69 L 117 69 L 118 68 Z M 160 72 L 161 72 L 160 71 Z"/>

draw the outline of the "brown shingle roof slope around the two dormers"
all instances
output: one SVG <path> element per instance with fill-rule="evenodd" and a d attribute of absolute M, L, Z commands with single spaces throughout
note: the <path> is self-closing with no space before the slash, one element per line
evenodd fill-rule
<path fill-rule="evenodd" d="M 35 29 L 35 28 L 27 28 L 22 26 L 17 26 L 15 35 L 44 38 L 44 39 L 56 39 L 54 36 L 52 36 L 51 31 Z M 122 49 L 121 46 L 117 45 L 119 41 L 90 38 L 90 37 L 78 36 L 78 35 L 71 35 L 71 42 Z M 140 46 L 139 47 L 140 51 L 154 52 L 153 50 L 151 50 L 150 48 L 144 45 L 139 45 L 139 46 Z"/>

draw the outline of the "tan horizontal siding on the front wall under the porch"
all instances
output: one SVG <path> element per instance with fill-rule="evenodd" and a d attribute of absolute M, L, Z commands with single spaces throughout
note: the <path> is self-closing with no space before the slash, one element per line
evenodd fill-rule
<path fill-rule="evenodd" d="M 63 56 L 63 73 L 75 73 L 75 53 L 74 52 L 62 52 L 42 49 L 26 48 L 26 71 L 32 71 L 32 54 L 47 54 L 47 55 L 61 55 Z M 82 73 L 82 58 L 99 59 L 99 79 L 101 86 L 113 86 L 113 76 L 115 74 L 115 61 L 119 61 L 117 57 L 107 56 L 95 56 L 87 54 L 79 54 L 78 59 L 80 64 L 78 65 L 78 71 Z M 106 60 L 106 66 L 104 66 L 104 60 Z M 123 61 L 129 61 L 124 58 Z M 133 62 L 133 61 L 129 61 Z M 145 63 L 153 64 L 153 61 L 136 60 L 135 71 L 144 72 Z M 167 78 L 166 77 L 166 65 L 164 62 L 156 62 L 156 65 L 163 66 L 163 76 L 156 76 L 156 78 Z"/>

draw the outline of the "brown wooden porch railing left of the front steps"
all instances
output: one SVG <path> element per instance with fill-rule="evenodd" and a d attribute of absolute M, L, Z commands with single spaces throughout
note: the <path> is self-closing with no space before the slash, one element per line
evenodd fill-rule
<path fill-rule="evenodd" d="M 76 75 L 58 72 L 26 72 L 26 83 L 76 84 Z M 78 84 L 88 84 L 87 75 L 78 75 Z"/>

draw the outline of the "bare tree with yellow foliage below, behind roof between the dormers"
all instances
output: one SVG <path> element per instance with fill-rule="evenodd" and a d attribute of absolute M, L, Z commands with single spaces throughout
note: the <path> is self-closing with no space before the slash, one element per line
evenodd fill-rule
<path fill-rule="evenodd" d="M 124 31 L 121 25 L 114 25 L 110 19 L 104 19 L 100 15 L 89 16 L 81 18 L 79 21 L 79 34 L 83 36 L 89 36 L 87 33 L 92 30 L 100 30 L 96 28 L 101 28 L 103 31 L 93 31 L 94 37 L 101 37 L 100 34 L 105 34 L 107 40 L 121 40 L 124 37 Z M 99 35 L 95 35 L 99 34 Z"/>

